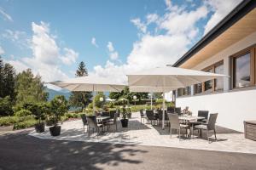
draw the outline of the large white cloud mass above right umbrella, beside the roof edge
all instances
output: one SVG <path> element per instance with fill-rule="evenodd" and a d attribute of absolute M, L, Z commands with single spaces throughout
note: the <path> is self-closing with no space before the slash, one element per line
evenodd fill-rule
<path fill-rule="evenodd" d="M 187 52 L 189 45 L 199 33 L 195 25 L 207 17 L 207 7 L 186 10 L 183 6 L 172 5 L 170 1 L 166 3 L 167 10 L 163 16 L 148 14 L 145 21 L 131 20 L 142 34 L 139 35 L 139 40 L 133 43 L 125 64 L 118 65 L 108 60 L 103 66 L 96 65 L 90 74 L 108 77 L 116 82 L 125 82 L 125 75 L 130 72 L 173 64 Z M 149 24 L 155 24 L 158 32 L 150 33 L 147 28 Z"/>

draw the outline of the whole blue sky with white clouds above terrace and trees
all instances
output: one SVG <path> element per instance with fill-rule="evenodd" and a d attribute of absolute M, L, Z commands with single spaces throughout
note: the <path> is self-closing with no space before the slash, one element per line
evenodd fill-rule
<path fill-rule="evenodd" d="M 44 82 L 89 74 L 125 82 L 172 65 L 241 0 L 0 0 L 0 55 Z"/>

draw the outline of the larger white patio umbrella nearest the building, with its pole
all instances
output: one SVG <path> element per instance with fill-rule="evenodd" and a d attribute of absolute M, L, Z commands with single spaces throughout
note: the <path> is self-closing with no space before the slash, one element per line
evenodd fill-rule
<path fill-rule="evenodd" d="M 177 88 L 206 82 L 217 77 L 227 77 L 205 71 L 195 71 L 172 66 L 157 67 L 150 70 L 139 71 L 127 75 L 130 89 L 141 90 L 142 92 L 170 92 Z M 147 89 L 148 88 L 148 89 Z M 165 96 L 163 96 L 163 120 L 162 127 L 165 127 Z"/>

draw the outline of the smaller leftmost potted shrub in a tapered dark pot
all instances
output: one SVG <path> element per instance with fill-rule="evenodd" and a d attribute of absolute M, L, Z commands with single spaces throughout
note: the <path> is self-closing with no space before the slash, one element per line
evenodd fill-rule
<path fill-rule="evenodd" d="M 35 124 L 35 129 L 37 133 L 44 132 L 44 120 L 45 114 L 48 111 L 48 105 L 46 103 L 39 103 L 34 105 L 34 111 L 32 114 L 35 116 L 35 119 L 38 120 L 38 123 Z"/>

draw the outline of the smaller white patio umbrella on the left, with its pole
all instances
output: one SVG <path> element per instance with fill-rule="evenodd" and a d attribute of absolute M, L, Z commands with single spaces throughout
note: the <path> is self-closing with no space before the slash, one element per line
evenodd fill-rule
<path fill-rule="evenodd" d="M 108 78 L 93 76 L 75 77 L 67 79 L 63 82 L 56 81 L 49 83 L 60 88 L 66 88 L 73 92 L 93 92 L 93 96 L 95 96 L 95 92 L 119 92 L 126 86 L 124 83 L 116 83 Z M 95 113 L 94 99 L 93 112 Z"/>

